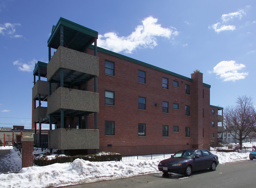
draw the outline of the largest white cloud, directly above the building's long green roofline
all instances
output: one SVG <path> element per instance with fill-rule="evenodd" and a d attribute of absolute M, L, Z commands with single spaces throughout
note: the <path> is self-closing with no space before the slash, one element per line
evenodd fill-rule
<path fill-rule="evenodd" d="M 104 35 L 98 35 L 97 46 L 115 51 L 117 53 L 124 51 L 132 53 L 135 49 L 154 48 L 157 46 L 156 37 L 165 37 L 173 39 L 178 35 L 174 27 L 163 28 L 161 24 L 156 24 L 157 18 L 148 17 L 142 21 L 142 25 L 135 28 L 135 31 L 128 36 L 119 37 L 116 32 L 109 32 Z"/>

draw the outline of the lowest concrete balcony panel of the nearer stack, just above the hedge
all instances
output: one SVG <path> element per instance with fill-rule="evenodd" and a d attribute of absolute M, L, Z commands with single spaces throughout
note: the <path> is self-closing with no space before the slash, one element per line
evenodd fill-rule
<path fill-rule="evenodd" d="M 99 146 L 99 130 L 59 128 L 48 132 L 48 148 L 84 150 Z"/>

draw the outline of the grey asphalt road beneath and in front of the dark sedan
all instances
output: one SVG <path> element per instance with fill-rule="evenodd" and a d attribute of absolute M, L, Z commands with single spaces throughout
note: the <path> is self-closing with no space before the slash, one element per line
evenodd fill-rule
<path fill-rule="evenodd" d="M 68 186 L 68 188 L 255 188 L 256 160 L 219 164 L 215 171 L 184 175 L 143 175 L 125 179 Z"/>

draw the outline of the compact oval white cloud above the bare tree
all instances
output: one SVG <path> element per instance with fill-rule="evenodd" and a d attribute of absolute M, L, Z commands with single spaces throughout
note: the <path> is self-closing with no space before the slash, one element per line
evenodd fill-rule
<path fill-rule="evenodd" d="M 236 81 L 244 79 L 248 73 L 239 73 L 238 71 L 245 68 L 244 64 L 237 64 L 235 61 L 221 61 L 214 68 L 215 73 L 223 81 Z"/>

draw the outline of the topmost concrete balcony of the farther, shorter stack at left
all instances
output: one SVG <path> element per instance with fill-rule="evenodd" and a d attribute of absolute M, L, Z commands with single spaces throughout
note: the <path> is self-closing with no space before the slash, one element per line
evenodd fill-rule
<path fill-rule="evenodd" d="M 41 95 L 40 100 L 45 100 L 49 95 L 49 83 L 43 80 L 37 80 L 32 88 L 32 99 L 39 100 L 39 94 Z"/>

